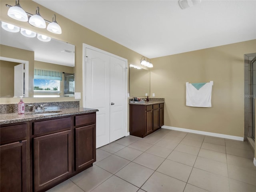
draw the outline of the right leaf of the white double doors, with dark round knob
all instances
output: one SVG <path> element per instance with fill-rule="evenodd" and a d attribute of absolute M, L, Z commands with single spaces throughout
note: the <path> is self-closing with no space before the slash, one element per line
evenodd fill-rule
<path fill-rule="evenodd" d="M 126 62 L 110 57 L 110 142 L 125 136 Z"/>

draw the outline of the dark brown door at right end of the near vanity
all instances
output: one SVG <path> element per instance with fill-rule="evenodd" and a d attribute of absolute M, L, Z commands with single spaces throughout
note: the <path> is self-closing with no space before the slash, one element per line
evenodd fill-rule
<path fill-rule="evenodd" d="M 96 125 L 75 129 L 76 171 L 96 161 Z"/>

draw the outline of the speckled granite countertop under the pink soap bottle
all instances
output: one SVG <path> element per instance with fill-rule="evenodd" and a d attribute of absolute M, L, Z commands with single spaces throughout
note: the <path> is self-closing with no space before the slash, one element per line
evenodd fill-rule
<path fill-rule="evenodd" d="M 99 111 L 98 109 L 90 109 L 90 108 L 65 108 L 65 109 L 57 109 L 57 110 L 45 110 L 45 113 L 50 111 L 60 111 L 58 114 L 56 113 L 48 113 L 48 114 L 37 114 L 33 115 L 32 112 L 25 112 L 24 114 L 18 113 L 7 113 L 0 114 L 0 125 L 9 124 L 9 123 L 17 123 L 31 120 L 39 120 L 46 119 L 52 117 L 61 117 L 68 115 L 77 115 L 77 114 L 86 114 Z"/>

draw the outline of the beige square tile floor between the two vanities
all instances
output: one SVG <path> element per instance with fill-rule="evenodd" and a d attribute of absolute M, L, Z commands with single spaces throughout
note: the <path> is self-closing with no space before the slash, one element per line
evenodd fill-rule
<path fill-rule="evenodd" d="M 96 152 L 92 167 L 48 192 L 256 192 L 247 142 L 159 129 Z"/>

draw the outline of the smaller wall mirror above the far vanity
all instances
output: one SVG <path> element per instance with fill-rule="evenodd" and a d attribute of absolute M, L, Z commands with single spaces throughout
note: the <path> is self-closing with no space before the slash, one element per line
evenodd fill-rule
<path fill-rule="evenodd" d="M 150 95 L 150 70 L 130 65 L 130 96 Z"/>

